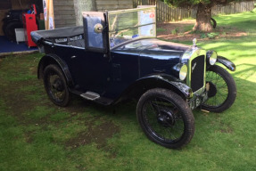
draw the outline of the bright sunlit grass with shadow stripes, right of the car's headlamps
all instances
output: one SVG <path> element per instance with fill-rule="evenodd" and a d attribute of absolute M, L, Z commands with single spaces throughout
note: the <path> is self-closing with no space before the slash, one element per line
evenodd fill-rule
<path fill-rule="evenodd" d="M 219 55 L 233 61 L 236 65 L 235 77 L 256 83 L 256 42 L 252 41 L 256 37 L 243 37 L 233 40 L 214 40 L 201 42 L 200 46 L 205 49 L 213 49 Z"/>

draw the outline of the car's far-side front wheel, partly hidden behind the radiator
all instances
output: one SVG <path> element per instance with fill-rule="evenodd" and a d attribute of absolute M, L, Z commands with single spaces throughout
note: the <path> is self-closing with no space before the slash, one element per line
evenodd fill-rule
<path fill-rule="evenodd" d="M 222 112 L 230 108 L 235 102 L 236 86 L 227 70 L 211 66 L 206 71 L 206 82 L 210 85 L 209 99 L 202 104 L 202 110 Z"/>

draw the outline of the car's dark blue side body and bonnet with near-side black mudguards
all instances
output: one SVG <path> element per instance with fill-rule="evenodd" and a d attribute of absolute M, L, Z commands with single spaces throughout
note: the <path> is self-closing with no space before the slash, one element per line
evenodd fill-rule
<path fill-rule="evenodd" d="M 189 46 L 150 38 L 114 48 L 107 55 L 74 46 L 44 47 L 47 53 L 39 62 L 38 77 L 47 64 L 56 62 L 67 78 L 71 92 L 100 94 L 108 100 L 106 104 L 143 94 L 152 87 L 172 89 L 184 99 L 191 94 L 185 83 L 177 83 L 180 81 L 172 70 Z"/>

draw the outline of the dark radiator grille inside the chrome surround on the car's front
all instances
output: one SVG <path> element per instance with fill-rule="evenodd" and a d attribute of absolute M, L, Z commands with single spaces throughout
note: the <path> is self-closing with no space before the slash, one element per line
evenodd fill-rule
<path fill-rule="evenodd" d="M 204 55 L 191 61 L 191 88 L 196 92 L 204 85 Z"/>

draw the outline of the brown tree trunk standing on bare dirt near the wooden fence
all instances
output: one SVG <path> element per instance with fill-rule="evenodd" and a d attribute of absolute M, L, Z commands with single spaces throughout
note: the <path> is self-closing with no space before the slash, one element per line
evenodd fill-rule
<path fill-rule="evenodd" d="M 211 32 L 211 7 L 211 4 L 198 4 L 196 22 L 194 24 L 193 30 Z"/>

